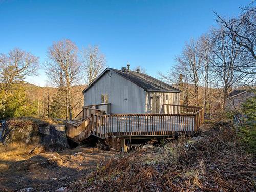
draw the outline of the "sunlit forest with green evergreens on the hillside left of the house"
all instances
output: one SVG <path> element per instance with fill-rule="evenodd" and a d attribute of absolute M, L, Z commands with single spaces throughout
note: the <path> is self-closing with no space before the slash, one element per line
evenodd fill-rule
<path fill-rule="evenodd" d="M 77 89 L 82 90 L 85 86 L 77 86 Z M 66 119 L 66 108 L 63 104 L 56 104 L 56 95 L 58 88 L 54 87 L 40 87 L 29 83 L 15 84 L 8 93 L 5 110 L 3 104 L 1 106 L 1 117 L 7 119 L 10 117 L 23 117 L 23 116 L 38 116 L 38 117 L 51 117 Z M 3 92 L 1 92 L 1 98 Z M 72 109 L 74 115 L 81 111 L 83 105 L 82 93 L 78 104 Z M 64 108 L 64 109 L 63 109 Z M 61 110 L 62 109 L 62 110 Z"/>

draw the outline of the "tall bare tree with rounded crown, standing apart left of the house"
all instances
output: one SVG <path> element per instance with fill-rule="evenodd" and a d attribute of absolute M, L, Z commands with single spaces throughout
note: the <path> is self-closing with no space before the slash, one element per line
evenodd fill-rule
<path fill-rule="evenodd" d="M 68 39 L 53 42 L 48 48 L 45 64 L 50 83 L 65 92 L 65 100 L 62 102 L 66 103 L 69 120 L 72 120 L 72 109 L 78 104 L 74 97 L 79 94 L 76 86 L 81 81 L 81 64 L 77 52 L 76 44 Z"/>

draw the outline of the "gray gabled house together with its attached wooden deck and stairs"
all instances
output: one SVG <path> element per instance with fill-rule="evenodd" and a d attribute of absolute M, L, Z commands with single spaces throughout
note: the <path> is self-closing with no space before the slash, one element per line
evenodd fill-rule
<path fill-rule="evenodd" d="M 83 94 L 81 112 L 65 126 L 76 143 L 115 136 L 125 151 L 132 137 L 193 134 L 204 119 L 203 108 L 179 105 L 180 90 L 140 70 L 106 68 Z"/>

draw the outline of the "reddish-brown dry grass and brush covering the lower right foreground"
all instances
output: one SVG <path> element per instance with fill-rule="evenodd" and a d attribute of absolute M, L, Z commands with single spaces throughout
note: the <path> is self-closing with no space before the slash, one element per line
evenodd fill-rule
<path fill-rule="evenodd" d="M 161 150 L 141 150 L 111 159 L 73 191 L 253 191 L 256 163 L 236 148 L 233 127 L 221 122 L 205 138 L 182 137 Z"/>

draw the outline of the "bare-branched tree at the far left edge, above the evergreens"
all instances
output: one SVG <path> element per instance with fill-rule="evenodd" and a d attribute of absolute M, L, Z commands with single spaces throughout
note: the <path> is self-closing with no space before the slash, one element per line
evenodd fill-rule
<path fill-rule="evenodd" d="M 38 67 L 39 58 L 19 48 L 12 49 L 8 56 L 1 54 L 0 81 L 4 85 L 4 98 L 14 83 L 23 82 L 26 76 L 37 75 Z"/>

